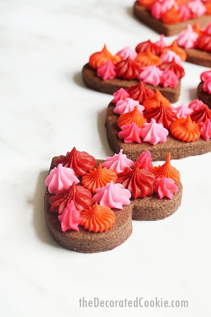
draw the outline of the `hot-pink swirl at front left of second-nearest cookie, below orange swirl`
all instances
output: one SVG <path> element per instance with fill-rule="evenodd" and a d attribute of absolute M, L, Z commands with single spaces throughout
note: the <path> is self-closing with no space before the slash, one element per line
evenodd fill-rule
<path fill-rule="evenodd" d="M 135 141 L 141 143 L 141 128 L 139 128 L 134 122 L 121 126 L 121 130 L 122 131 L 118 133 L 118 136 L 120 139 L 124 139 L 125 143 L 133 143 Z"/>

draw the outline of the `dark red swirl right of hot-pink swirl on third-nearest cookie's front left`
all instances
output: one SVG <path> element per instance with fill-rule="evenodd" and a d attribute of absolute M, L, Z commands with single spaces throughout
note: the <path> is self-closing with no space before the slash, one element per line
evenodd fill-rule
<path fill-rule="evenodd" d="M 141 65 L 127 57 L 125 61 L 120 61 L 116 64 L 115 72 L 117 77 L 122 79 L 136 79 L 141 72 Z"/>

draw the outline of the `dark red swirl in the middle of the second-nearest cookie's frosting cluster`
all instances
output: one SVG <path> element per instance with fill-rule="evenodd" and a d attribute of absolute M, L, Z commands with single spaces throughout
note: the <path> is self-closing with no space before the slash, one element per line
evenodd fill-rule
<path fill-rule="evenodd" d="M 169 130 L 171 123 L 177 119 L 177 115 L 170 108 L 166 108 L 162 101 L 160 107 L 146 110 L 144 117 L 148 122 L 150 122 L 152 118 L 155 119 L 157 123 L 162 123 L 167 130 Z"/>

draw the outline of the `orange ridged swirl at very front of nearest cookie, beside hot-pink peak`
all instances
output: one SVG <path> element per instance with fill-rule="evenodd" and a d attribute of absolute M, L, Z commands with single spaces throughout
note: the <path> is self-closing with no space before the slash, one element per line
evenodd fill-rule
<path fill-rule="evenodd" d="M 115 223 L 115 214 L 111 208 L 95 203 L 89 209 L 81 212 L 82 222 L 85 229 L 93 232 L 107 231 Z"/>

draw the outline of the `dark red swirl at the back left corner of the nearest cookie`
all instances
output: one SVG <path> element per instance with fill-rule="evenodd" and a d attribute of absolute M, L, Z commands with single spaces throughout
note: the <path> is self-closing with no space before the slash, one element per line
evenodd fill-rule
<path fill-rule="evenodd" d="M 73 169 L 77 177 L 83 176 L 96 166 L 93 156 L 84 151 L 77 151 L 75 146 L 71 152 L 67 152 L 66 156 L 60 155 L 59 159 L 54 162 L 55 166 L 59 164 Z"/>

